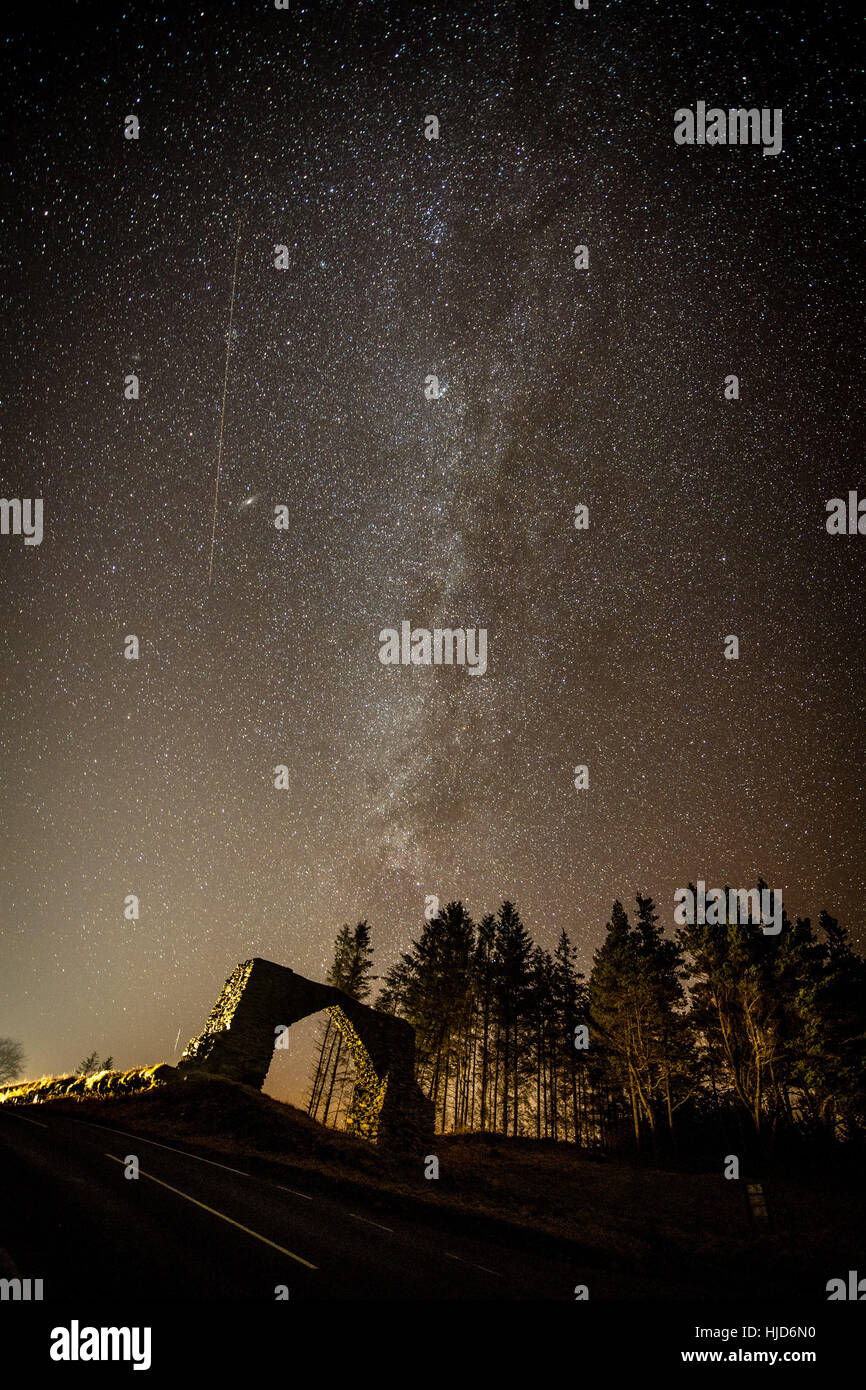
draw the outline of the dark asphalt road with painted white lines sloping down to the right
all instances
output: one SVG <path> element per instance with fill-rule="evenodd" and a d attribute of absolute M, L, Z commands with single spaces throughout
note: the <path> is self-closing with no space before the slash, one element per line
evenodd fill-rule
<path fill-rule="evenodd" d="M 518 1234 L 461 1237 L 36 1106 L 0 1106 L 0 1277 L 43 1279 L 46 1301 L 652 1297 Z"/>

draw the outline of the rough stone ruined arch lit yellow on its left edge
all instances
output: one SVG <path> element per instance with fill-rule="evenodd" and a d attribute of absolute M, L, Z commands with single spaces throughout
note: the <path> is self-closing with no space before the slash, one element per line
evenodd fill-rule
<path fill-rule="evenodd" d="M 254 958 L 232 970 L 178 1069 L 225 1076 L 260 1091 L 278 1030 L 322 1009 L 341 1030 L 356 1065 L 346 1129 L 392 1148 L 427 1144 L 434 1133 L 434 1106 L 414 1079 L 411 1024 L 272 960 Z"/>

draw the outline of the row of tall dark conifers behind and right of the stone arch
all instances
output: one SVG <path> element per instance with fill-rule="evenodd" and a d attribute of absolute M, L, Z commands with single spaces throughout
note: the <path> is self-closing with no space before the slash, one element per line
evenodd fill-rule
<path fill-rule="evenodd" d="M 759 887 L 766 887 L 759 884 Z M 329 983 L 370 994 L 367 923 L 342 929 Z M 448 1131 L 676 1151 L 740 1122 L 853 1137 L 866 1122 L 866 962 L 822 912 L 663 933 L 652 898 L 617 901 L 587 979 L 560 933 L 537 945 L 517 908 L 475 923 L 450 902 L 382 980 L 377 1008 L 416 1030 L 417 1077 Z M 331 1024 L 310 1112 L 338 1123 L 352 1070 Z M 336 1104 L 335 1104 L 336 1097 Z"/>

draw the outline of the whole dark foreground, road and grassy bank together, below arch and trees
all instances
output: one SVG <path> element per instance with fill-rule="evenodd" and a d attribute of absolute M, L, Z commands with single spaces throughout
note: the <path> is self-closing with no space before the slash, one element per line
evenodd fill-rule
<path fill-rule="evenodd" d="M 866 1197 L 844 1169 L 765 1176 L 771 1229 L 756 1234 L 745 1182 L 721 1165 L 492 1136 L 436 1136 L 430 1152 L 438 1180 L 424 1155 L 385 1155 L 224 1081 L 6 1105 L 0 1258 L 46 1279 L 46 1298 L 120 1279 L 165 1300 L 272 1298 L 278 1283 L 300 1298 L 574 1300 L 587 1284 L 592 1298 L 826 1300 L 828 1279 L 863 1265 Z M 129 1154 L 138 1180 L 113 1161 Z"/>

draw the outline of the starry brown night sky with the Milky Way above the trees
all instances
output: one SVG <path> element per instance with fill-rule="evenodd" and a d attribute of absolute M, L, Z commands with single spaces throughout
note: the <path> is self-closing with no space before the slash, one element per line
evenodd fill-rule
<path fill-rule="evenodd" d="M 174 1059 L 238 960 L 322 979 L 343 922 L 381 974 L 428 894 L 587 969 L 616 897 L 760 873 L 863 944 L 852 7 L 72 10 L 11 11 L 0 72 L 28 1074 Z M 676 146 L 698 100 L 781 107 L 783 153 Z M 487 674 L 382 666 L 405 619 L 487 628 Z"/>

